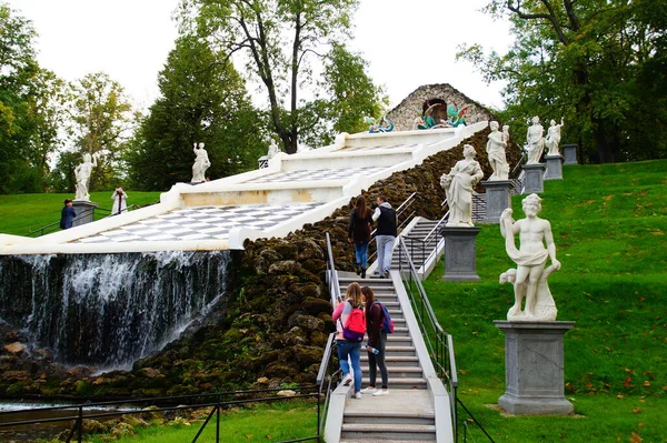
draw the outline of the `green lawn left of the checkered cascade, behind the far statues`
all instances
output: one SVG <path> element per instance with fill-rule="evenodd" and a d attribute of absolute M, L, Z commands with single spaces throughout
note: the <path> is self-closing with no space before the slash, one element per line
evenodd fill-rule
<path fill-rule="evenodd" d="M 110 211 L 113 204 L 111 193 L 112 191 L 91 192 L 90 201 L 98 203 L 100 209 Z M 136 208 L 145 207 L 160 200 L 160 192 L 127 191 L 127 193 L 128 207 L 132 204 Z M 57 223 L 60 220 L 62 202 L 64 199 L 72 198 L 71 194 L 0 195 L 0 233 L 26 235 L 48 224 Z M 100 217 L 109 214 L 108 211 L 102 210 L 98 211 Z"/>

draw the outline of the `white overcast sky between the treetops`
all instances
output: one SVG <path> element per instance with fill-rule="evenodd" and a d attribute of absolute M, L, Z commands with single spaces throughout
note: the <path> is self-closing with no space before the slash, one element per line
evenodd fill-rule
<path fill-rule="evenodd" d="M 106 72 L 140 108 L 159 97 L 158 72 L 177 38 L 179 0 L 0 0 L 32 21 L 38 61 L 68 81 Z M 486 0 L 361 0 L 351 48 L 369 62 L 394 108 L 422 84 L 449 83 L 475 101 L 502 107 L 501 84 L 486 84 L 456 61 L 460 43 L 504 52 L 507 22 L 480 12 Z M 425 4 L 425 6 L 420 6 Z M 426 7 L 428 4 L 428 8 Z"/>

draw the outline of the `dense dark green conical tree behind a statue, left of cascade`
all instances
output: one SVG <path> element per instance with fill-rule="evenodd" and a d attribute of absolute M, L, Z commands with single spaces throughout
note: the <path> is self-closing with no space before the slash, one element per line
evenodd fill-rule
<path fill-rule="evenodd" d="M 231 63 L 205 41 L 181 37 L 158 83 L 162 97 L 142 120 L 127 162 L 135 188 L 168 190 L 192 177 L 192 143 L 205 142 L 207 175 L 221 178 L 257 168 L 266 153 L 260 115 Z"/>

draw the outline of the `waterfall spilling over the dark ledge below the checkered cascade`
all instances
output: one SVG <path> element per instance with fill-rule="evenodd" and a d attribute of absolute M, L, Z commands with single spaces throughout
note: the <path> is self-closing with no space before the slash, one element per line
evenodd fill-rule
<path fill-rule="evenodd" d="M 68 366 L 128 369 L 225 294 L 228 251 L 0 258 L 0 324 Z"/>

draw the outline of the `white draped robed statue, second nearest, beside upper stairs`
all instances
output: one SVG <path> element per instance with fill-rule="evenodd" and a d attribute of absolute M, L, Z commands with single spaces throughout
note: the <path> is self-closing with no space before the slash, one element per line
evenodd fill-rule
<path fill-rule="evenodd" d="M 464 147 L 464 160 L 459 160 L 448 174 L 440 177 L 440 185 L 447 192 L 449 205 L 448 226 L 474 226 L 472 187 L 479 182 L 484 172 L 475 160 L 477 152 L 470 144 Z"/>

